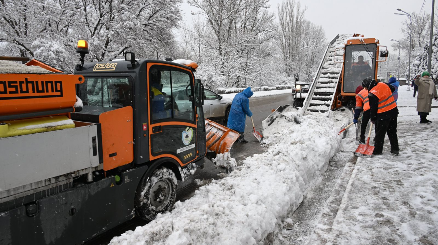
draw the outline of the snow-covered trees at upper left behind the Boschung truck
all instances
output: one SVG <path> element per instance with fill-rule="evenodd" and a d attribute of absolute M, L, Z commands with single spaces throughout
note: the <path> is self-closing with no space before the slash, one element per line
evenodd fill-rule
<path fill-rule="evenodd" d="M 172 29 L 181 20 L 181 0 L 0 0 L 0 42 L 5 55 L 43 59 L 66 70 L 77 63 L 78 39 L 89 43 L 89 60 L 105 61 L 125 51 L 138 57 L 171 55 Z"/>

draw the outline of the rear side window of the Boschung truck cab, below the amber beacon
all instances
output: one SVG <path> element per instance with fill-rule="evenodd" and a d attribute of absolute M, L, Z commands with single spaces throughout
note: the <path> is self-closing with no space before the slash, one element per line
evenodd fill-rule
<path fill-rule="evenodd" d="M 84 105 L 125 107 L 132 105 L 132 82 L 127 77 L 85 77 L 78 97 Z"/>

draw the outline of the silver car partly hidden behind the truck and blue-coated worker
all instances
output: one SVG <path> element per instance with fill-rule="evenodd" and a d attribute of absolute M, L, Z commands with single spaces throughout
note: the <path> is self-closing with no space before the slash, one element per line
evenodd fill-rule
<path fill-rule="evenodd" d="M 232 102 L 229 98 L 223 98 L 208 88 L 204 88 L 204 117 L 210 120 L 224 120 L 226 123 Z"/>

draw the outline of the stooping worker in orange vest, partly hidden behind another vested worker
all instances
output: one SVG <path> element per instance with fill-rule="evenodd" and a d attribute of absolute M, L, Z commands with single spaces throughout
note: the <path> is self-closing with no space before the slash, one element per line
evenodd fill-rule
<path fill-rule="evenodd" d="M 370 103 L 368 101 L 368 91 L 359 85 L 356 88 L 356 109 L 354 109 L 353 123 L 356 124 L 357 119 L 362 112 L 362 122 L 360 123 L 360 144 L 365 144 L 365 130 L 367 129 L 368 121 L 370 120 Z"/>

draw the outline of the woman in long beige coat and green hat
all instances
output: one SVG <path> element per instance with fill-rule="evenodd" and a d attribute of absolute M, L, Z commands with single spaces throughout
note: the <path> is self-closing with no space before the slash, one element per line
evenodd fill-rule
<path fill-rule="evenodd" d="M 429 76 L 430 74 L 424 71 L 421 73 L 421 77 L 417 75 L 414 81 L 418 86 L 417 112 L 420 116 L 420 123 L 431 123 L 426 117 L 432 111 L 432 98 L 438 99 L 434 81 Z"/>

